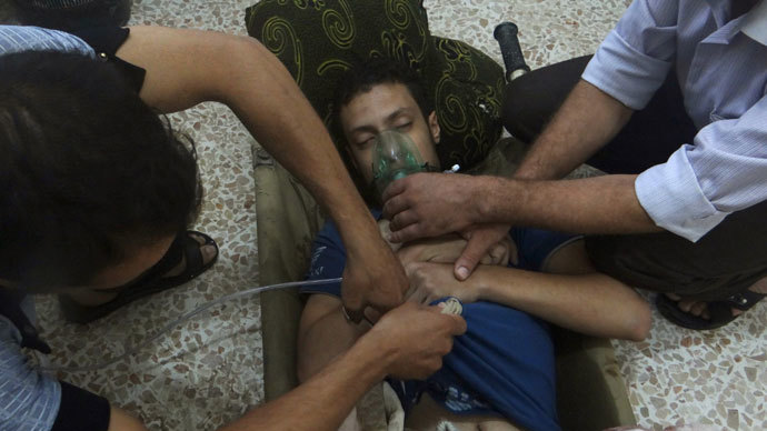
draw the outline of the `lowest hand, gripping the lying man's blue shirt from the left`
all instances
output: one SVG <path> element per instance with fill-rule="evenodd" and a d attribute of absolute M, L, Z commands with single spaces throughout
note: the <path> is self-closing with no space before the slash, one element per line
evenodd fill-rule
<path fill-rule="evenodd" d="M 362 340 L 378 345 L 389 375 L 424 380 L 442 368 L 452 338 L 464 332 L 466 321 L 460 315 L 407 302 L 386 313 Z"/>

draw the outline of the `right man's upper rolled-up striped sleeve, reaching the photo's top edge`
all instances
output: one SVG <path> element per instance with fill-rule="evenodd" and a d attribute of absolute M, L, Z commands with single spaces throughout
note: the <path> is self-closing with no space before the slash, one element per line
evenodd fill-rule
<path fill-rule="evenodd" d="M 645 108 L 671 68 L 677 11 L 677 1 L 634 1 L 581 78 L 634 110 Z"/>

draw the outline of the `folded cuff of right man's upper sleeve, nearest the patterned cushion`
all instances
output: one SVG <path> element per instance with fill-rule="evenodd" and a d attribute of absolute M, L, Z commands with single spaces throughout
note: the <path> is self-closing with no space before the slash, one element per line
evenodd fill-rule
<path fill-rule="evenodd" d="M 625 106 L 640 110 L 664 83 L 670 68 L 669 61 L 637 51 L 612 30 L 581 78 Z"/>

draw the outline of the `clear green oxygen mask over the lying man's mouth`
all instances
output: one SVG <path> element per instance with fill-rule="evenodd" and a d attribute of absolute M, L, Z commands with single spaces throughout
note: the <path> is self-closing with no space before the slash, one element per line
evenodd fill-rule
<path fill-rule="evenodd" d="M 376 137 L 372 149 L 372 183 L 378 196 L 396 180 L 411 173 L 432 171 L 410 137 L 385 130 Z"/>

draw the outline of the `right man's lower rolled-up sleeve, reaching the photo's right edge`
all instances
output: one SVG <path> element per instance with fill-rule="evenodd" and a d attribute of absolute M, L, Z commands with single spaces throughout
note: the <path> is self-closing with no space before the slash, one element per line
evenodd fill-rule
<path fill-rule="evenodd" d="M 637 198 L 658 227 L 697 241 L 729 213 L 767 200 L 767 96 L 739 119 L 700 129 L 694 144 L 643 172 Z"/>

